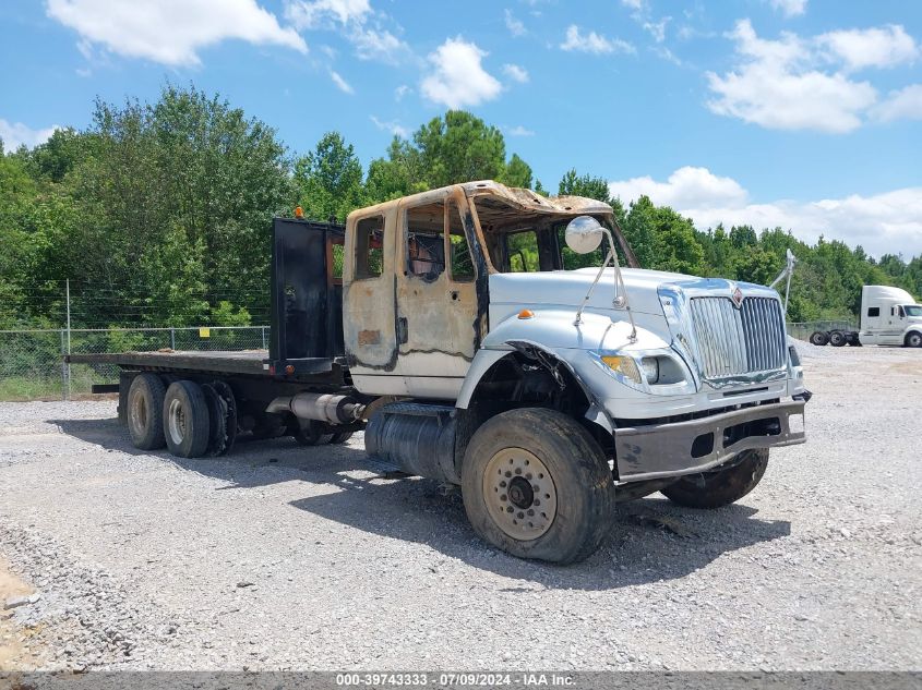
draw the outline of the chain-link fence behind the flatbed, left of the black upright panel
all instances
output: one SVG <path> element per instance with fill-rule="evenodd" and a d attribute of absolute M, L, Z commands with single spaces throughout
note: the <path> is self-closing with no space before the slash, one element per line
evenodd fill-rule
<path fill-rule="evenodd" d="M 0 330 L 0 400 L 67 399 L 116 384 L 111 364 L 64 364 L 63 355 L 155 350 L 265 350 L 268 326 Z"/>

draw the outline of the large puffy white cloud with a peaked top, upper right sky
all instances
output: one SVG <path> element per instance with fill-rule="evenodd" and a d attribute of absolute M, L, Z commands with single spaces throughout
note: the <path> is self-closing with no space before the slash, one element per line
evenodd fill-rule
<path fill-rule="evenodd" d="M 758 38 L 749 20 L 730 35 L 742 61 L 723 75 L 707 73 L 711 111 L 778 130 L 842 133 L 861 125 L 877 99 L 867 82 L 813 68 L 815 55 L 798 36 Z"/>

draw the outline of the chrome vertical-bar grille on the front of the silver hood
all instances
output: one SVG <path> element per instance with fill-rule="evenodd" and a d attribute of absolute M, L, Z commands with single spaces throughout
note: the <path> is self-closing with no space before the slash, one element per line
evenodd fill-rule
<path fill-rule="evenodd" d="M 692 320 L 705 378 L 776 371 L 785 366 L 785 319 L 778 300 L 693 298 Z"/>

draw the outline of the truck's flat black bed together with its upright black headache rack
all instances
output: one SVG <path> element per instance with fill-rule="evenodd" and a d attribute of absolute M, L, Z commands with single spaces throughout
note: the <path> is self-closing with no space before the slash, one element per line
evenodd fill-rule
<path fill-rule="evenodd" d="M 265 350 L 163 350 L 69 354 L 64 361 L 115 364 L 134 371 L 220 373 L 342 385 L 346 371 L 343 280 L 335 276 L 334 246 L 342 246 L 345 237 L 345 227 L 337 223 L 274 219 L 268 359 Z M 98 388 L 98 392 L 108 392 L 116 386 Z"/>

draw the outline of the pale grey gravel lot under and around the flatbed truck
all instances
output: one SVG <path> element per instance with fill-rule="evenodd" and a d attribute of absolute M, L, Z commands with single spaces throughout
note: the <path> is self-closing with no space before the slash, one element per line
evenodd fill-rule
<path fill-rule="evenodd" d="M 456 492 L 381 479 L 360 436 L 181 460 L 133 449 L 112 401 L 0 403 L 0 574 L 38 593 L 0 646 L 46 669 L 922 668 L 922 352 L 800 349 L 806 445 L 721 510 L 620 506 L 568 568 L 487 547 Z"/>

